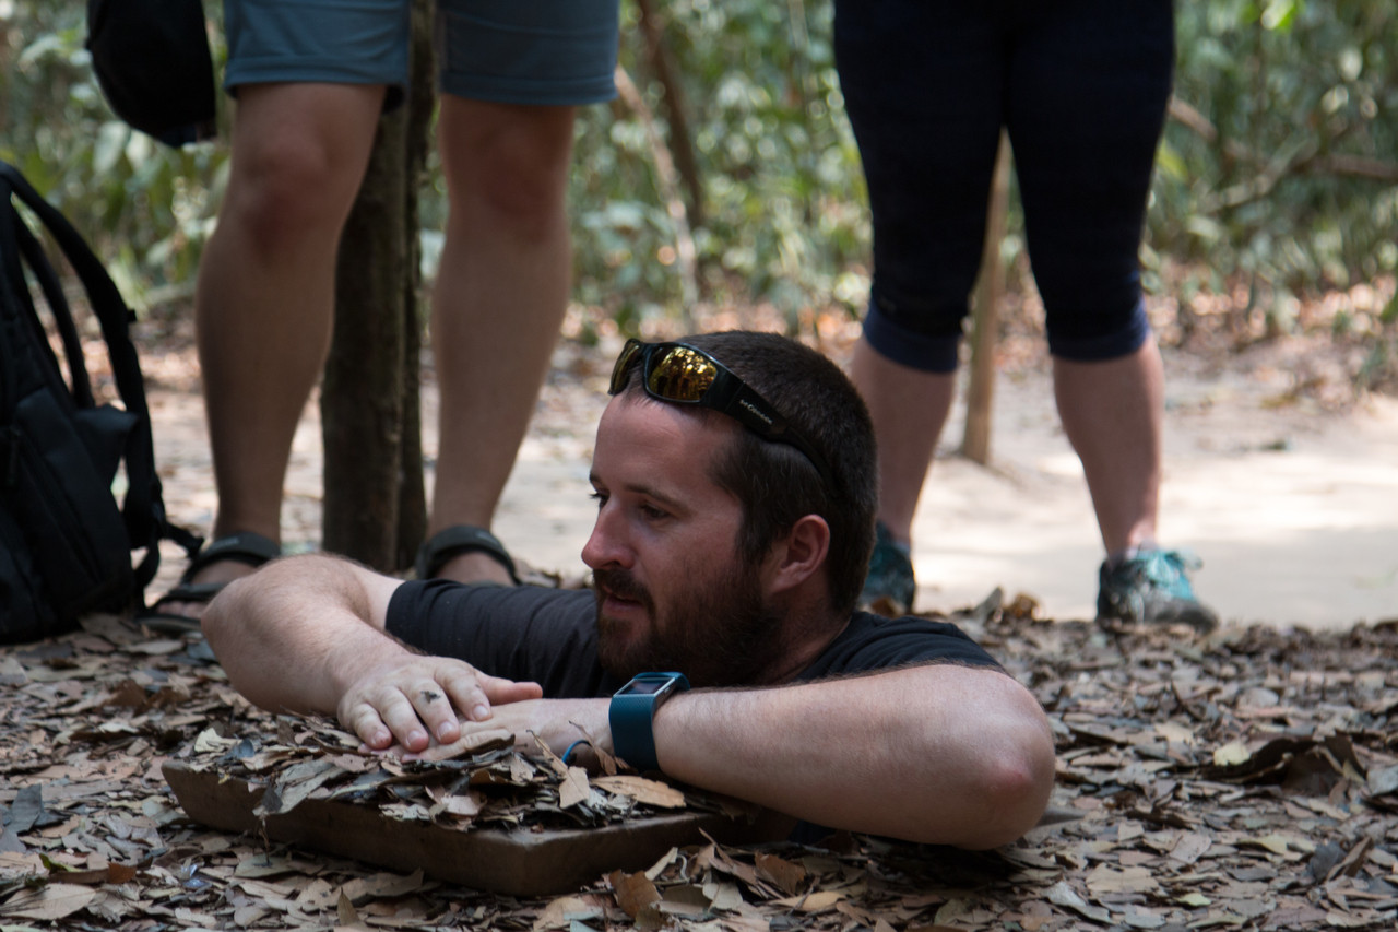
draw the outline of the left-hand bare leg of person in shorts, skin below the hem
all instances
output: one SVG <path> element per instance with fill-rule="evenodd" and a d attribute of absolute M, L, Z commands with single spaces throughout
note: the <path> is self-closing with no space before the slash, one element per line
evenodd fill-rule
<path fill-rule="evenodd" d="M 196 292 L 215 537 L 281 539 L 287 460 L 330 344 L 336 250 L 382 99 L 382 87 L 239 91 L 232 175 Z M 196 582 L 247 572 L 222 561 Z"/>

